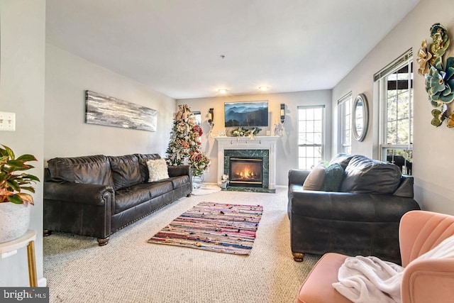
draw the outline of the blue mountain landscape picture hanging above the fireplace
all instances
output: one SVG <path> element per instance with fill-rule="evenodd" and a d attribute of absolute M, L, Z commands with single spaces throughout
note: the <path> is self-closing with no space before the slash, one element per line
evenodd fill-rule
<path fill-rule="evenodd" d="M 225 126 L 268 126 L 268 101 L 224 103 Z"/>

